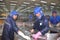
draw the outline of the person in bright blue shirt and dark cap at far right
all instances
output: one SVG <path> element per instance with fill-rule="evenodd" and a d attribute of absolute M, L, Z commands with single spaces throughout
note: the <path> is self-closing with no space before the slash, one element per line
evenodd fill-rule
<path fill-rule="evenodd" d="M 52 11 L 52 16 L 50 17 L 50 26 L 60 26 L 60 16 L 57 15 L 57 12 Z"/>

